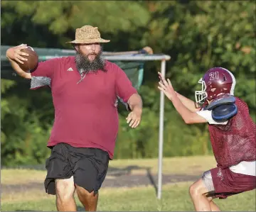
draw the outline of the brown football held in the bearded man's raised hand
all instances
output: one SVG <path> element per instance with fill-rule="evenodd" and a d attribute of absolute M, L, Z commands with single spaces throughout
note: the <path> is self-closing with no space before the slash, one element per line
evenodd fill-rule
<path fill-rule="evenodd" d="M 22 60 L 24 62 L 23 64 L 19 63 L 21 69 L 23 69 L 23 71 L 25 72 L 28 72 L 36 68 L 36 66 L 38 65 L 38 54 L 36 53 L 36 51 L 28 46 L 28 48 L 22 49 L 21 52 L 26 52 L 28 54 L 28 56 L 22 55 L 22 57 L 27 58 L 28 60 Z"/>

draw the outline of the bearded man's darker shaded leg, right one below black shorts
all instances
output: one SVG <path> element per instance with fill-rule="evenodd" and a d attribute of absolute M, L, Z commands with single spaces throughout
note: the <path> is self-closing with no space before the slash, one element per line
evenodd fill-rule
<path fill-rule="evenodd" d="M 85 211 L 97 211 L 97 201 L 99 193 L 94 195 L 94 191 L 87 191 L 81 186 L 75 185 L 78 198 L 82 205 L 85 207 Z"/>

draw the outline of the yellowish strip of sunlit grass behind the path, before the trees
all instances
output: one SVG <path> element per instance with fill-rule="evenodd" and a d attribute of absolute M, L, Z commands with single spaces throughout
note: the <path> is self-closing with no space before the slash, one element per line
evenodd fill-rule
<path fill-rule="evenodd" d="M 163 174 L 201 174 L 203 171 L 215 166 L 216 162 L 213 156 L 164 158 Z M 132 169 L 131 174 L 145 174 L 146 169 L 150 169 L 152 174 L 156 174 L 158 171 L 158 160 L 112 160 L 110 161 L 110 169 Z M 46 172 L 41 170 L 1 170 L 1 184 L 43 182 L 45 177 Z"/>

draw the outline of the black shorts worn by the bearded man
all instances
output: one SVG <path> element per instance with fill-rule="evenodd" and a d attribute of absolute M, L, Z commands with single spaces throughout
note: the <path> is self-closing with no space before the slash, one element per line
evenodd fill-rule
<path fill-rule="evenodd" d="M 46 160 L 46 193 L 55 195 L 55 179 L 74 177 L 74 183 L 89 192 L 100 189 L 105 180 L 110 157 L 97 148 L 78 148 L 59 143 Z"/>

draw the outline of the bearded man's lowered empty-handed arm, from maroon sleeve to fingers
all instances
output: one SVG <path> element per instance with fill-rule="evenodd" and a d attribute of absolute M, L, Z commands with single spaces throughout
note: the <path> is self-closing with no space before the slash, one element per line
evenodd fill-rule
<path fill-rule="evenodd" d="M 137 90 L 132 86 L 132 82 L 127 77 L 127 74 L 116 66 L 116 91 L 117 96 L 122 101 L 128 104 L 131 112 L 127 116 L 127 123 L 130 127 L 136 128 L 142 119 L 142 98 L 139 96 Z"/>

